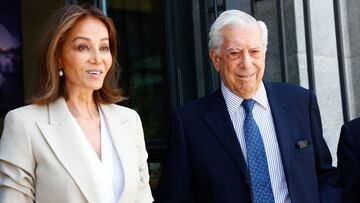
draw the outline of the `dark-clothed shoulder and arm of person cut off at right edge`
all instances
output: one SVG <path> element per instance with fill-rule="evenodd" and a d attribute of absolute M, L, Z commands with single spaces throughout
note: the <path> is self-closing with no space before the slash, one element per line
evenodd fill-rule
<path fill-rule="evenodd" d="M 360 118 L 342 126 L 337 154 L 342 202 L 360 202 Z"/>

